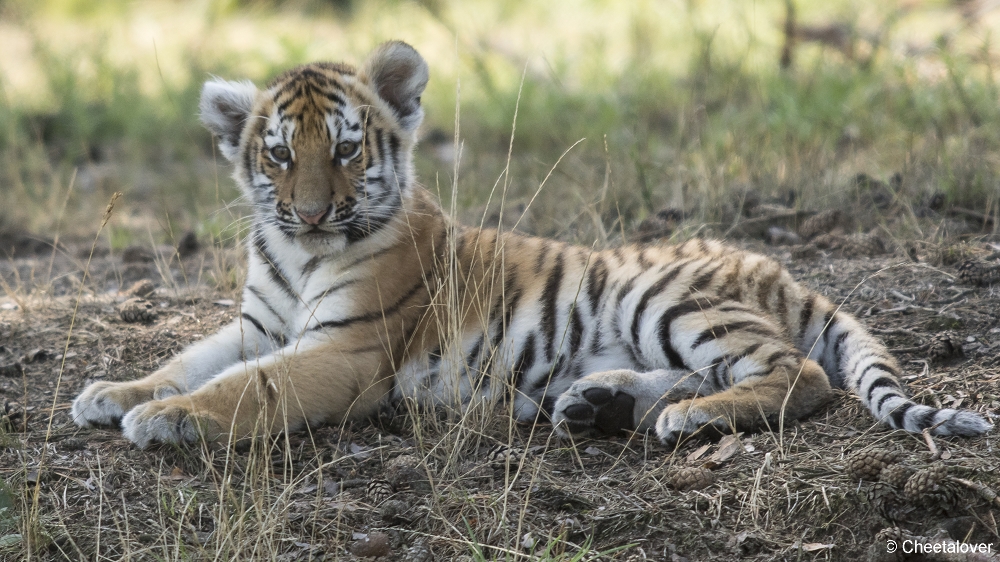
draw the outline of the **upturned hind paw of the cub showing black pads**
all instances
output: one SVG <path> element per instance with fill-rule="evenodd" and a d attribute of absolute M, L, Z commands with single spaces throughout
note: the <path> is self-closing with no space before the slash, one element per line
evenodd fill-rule
<path fill-rule="evenodd" d="M 635 429 L 635 397 L 594 381 L 581 379 L 556 400 L 553 421 L 562 432 L 614 435 Z"/>

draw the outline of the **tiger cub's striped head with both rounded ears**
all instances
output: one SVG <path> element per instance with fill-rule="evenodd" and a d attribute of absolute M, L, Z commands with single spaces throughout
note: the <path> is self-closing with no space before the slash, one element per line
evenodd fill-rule
<path fill-rule="evenodd" d="M 410 190 L 427 63 L 392 41 L 360 69 L 314 63 L 263 90 L 213 79 L 201 120 L 232 161 L 258 228 L 317 255 L 384 229 Z"/>

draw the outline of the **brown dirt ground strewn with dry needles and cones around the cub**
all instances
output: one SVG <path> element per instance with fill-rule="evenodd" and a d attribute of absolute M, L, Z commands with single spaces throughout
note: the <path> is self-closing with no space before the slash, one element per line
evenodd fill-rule
<path fill-rule="evenodd" d="M 858 252 L 780 233 L 734 243 L 843 302 L 894 350 L 917 401 L 1000 412 L 995 239 Z M 192 245 L 179 261 L 170 248 L 98 248 L 82 280 L 89 243 L 64 243 L 55 259 L 28 246 L 0 262 L 10 288 L 0 297 L 3 560 L 26 556 L 28 542 L 43 560 L 938 559 L 889 555 L 893 533 L 1000 549 L 995 431 L 925 440 L 875 425 L 847 394 L 780 432 L 677 450 L 643 435 L 560 440 L 499 408 L 459 422 L 400 414 L 228 451 L 142 451 L 115 429 L 77 428 L 69 403 L 92 381 L 154 370 L 234 318 L 237 293 L 211 287 L 236 251 Z M 120 291 L 147 278 L 156 318 L 125 322 Z M 861 479 L 859 467 L 880 460 L 945 475 L 877 483 L 878 465 Z M 711 482 L 678 489 L 701 478 Z"/>

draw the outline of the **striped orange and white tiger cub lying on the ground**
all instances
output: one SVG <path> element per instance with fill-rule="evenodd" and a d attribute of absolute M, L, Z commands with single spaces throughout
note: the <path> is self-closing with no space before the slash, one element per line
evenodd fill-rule
<path fill-rule="evenodd" d="M 211 80 L 201 119 L 253 206 L 239 318 L 155 373 L 97 382 L 82 426 L 140 447 L 505 400 L 562 434 L 775 428 L 849 389 L 875 419 L 975 436 L 910 401 L 899 364 L 774 260 L 721 243 L 604 251 L 464 227 L 414 179 L 424 59 L 378 47 L 263 90 Z"/>

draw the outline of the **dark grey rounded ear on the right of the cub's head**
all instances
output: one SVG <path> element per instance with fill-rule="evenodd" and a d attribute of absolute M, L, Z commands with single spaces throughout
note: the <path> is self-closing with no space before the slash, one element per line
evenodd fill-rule
<path fill-rule="evenodd" d="M 407 131 L 416 130 L 424 117 L 420 94 L 427 86 L 428 77 L 424 57 L 402 41 L 379 45 L 361 69 L 362 80 L 392 107 Z"/>

